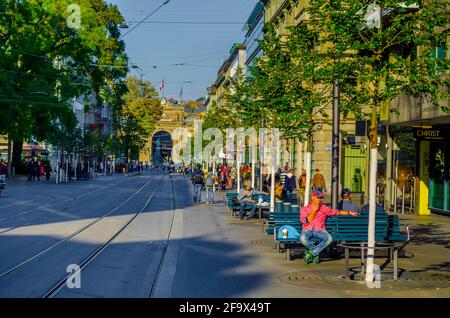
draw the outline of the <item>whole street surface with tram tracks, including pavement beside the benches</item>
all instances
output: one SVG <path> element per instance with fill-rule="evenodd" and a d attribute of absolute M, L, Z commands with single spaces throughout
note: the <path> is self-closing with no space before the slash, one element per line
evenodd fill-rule
<path fill-rule="evenodd" d="M 257 220 L 233 220 L 220 201 L 194 206 L 189 180 L 160 170 L 62 186 L 17 181 L 0 211 L 1 297 L 448 297 L 448 276 L 376 291 L 339 278 L 342 260 L 286 262 Z"/>

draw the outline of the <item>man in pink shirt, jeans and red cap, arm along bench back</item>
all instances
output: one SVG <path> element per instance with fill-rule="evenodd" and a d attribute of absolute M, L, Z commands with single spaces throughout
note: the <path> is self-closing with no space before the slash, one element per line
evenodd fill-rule
<path fill-rule="evenodd" d="M 300 241 L 306 247 L 305 264 L 318 264 L 319 255 L 333 241 L 332 236 L 326 231 L 325 222 L 329 216 L 351 215 L 359 216 L 357 212 L 339 211 L 327 207 L 322 203 L 323 193 L 314 191 L 311 203 L 300 210 L 300 223 L 302 224 L 302 234 Z M 316 245 L 312 240 L 316 238 L 319 243 Z"/>

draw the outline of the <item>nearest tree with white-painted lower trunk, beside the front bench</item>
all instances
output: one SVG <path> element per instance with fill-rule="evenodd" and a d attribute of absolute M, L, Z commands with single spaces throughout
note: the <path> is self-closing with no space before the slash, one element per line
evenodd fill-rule
<path fill-rule="evenodd" d="M 448 28 L 448 4 L 438 0 L 418 3 L 386 0 L 368 6 L 356 0 L 311 0 L 308 9 L 312 24 L 324 31 L 322 43 L 329 52 L 358 53 L 342 65 L 353 68 L 358 83 L 355 94 L 367 100 L 365 110 L 371 117 L 368 282 L 374 278 L 378 111 L 402 93 L 422 96 L 448 111 L 443 101 L 449 99 L 450 82 L 442 74 L 450 64 L 432 54 L 436 47 L 447 46 L 448 35 L 443 30 Z M 376 13 L 375 24 L 364 17 L 368 9 Z"/>

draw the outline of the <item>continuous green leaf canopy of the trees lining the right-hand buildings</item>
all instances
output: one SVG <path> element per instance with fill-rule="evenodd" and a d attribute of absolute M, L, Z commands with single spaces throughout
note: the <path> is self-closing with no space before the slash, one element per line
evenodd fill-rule
<path fill-rule="evenodd" d="M 448 59 L 432 54 L 448 46 L 449 10 L 445 1 L 371 1 L 382 9 L 379 28 L 366 24 L 369 3 L 349 0 L 310 0 L 307 20 L 279 36 L 266 25 L 264 55 L 250 68 L 250 76 L 233 82 L 227 105 L 211 109 L 233 114 L 246 126 L 278 127 L 287 136 L 308 139 L 314 122 L 327 120 L 332 83 L 339 78 L 340 110 L 357 118 L 372 113 L 382 102 L 402 93 L 424 96 L 446 109 L 449 99 Z M 393 109 L 391 112 L 395 112 Z M 213 120 L 210 120 L 214 122 Z M 376 120 L 372 120 L 376 127 Z M 376 134 L 372 135 L 376 140 Z"/>

